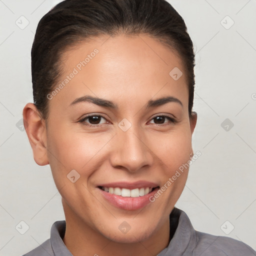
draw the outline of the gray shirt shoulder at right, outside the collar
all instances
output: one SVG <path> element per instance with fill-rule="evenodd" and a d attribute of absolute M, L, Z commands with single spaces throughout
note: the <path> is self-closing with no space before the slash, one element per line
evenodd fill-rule
<path fill-rule="evenodd" d="M 218 256 L 253 256 L 256 251 L 242 241 L 231 237 L 217 236 L 208 233 L 195 231 L 196 244 L 194 255 L 218 255 Z"/>

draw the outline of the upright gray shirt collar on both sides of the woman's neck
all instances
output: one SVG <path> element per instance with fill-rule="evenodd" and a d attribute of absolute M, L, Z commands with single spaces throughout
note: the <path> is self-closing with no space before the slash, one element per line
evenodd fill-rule
<path fill-rule="evenodd" d="M 185 256 L 191 255 L 196 243 L 195 230 L 186 213 L 174 207 L 169 215 L 170 242 L 157 256 Z M 55 256 L 72 256 L 63 242 L 65 234 L 65 220 L 53 223 L 50 229 L 50 242 Z"/>

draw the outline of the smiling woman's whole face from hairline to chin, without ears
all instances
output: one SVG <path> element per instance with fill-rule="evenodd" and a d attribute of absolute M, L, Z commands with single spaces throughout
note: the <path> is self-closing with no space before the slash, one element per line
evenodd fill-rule
<path fill-rule="evenodd" d="M 58 89 L 48 95 L 45 157 L 66 218 L 134 242 L 168 221 L 188 169 L 169 178 L 189 161 L 195 122 L 174 51 L 146 35 L 108 37 L 62 56 Z"/>

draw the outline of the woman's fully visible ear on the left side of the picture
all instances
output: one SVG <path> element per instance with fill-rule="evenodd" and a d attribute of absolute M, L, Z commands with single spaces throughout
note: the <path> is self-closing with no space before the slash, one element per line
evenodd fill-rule
<path fill-rule="evenodd" d="M 45 120 L 33 103 L 24 106 L 23 123 L 35 162 L 38 165 L 48 164 Z"/>

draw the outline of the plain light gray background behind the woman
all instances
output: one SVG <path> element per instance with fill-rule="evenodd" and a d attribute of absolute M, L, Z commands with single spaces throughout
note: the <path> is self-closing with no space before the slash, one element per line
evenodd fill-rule
<path fill-rule="evenodd" d="M 34 162 L 26 133 L 16 126 L 32 102 L 34 32 L 57 2 L 0 0 L 0 255 L 28 252 L 49 238 L 55 220 L 64 219 L 49 165 Z M 169 2 L 184 18 L 196 51 L 192 142 L 202 153 L 176 206 L 196 230 L 256 249 L 256 0 Z M 15 23 L 25 24 L 21 15 L 29 21 L 23 29 Z M 227 15 L 234 21 L 229 29 Z M 228 131 L 221 126 L 226 118 L 234 124 Z M 21 220 L 29 225 L 23 235 L 15 229 Z"/>

